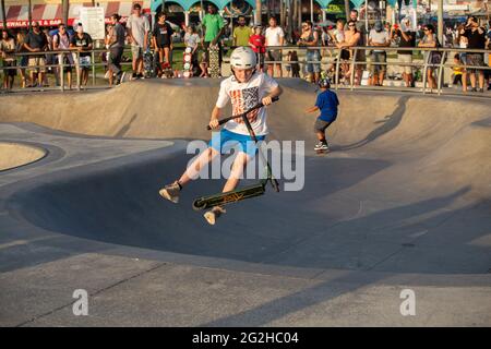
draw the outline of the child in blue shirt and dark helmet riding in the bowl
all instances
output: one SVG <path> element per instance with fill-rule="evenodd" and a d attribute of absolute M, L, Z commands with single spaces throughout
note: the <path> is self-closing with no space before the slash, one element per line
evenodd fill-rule
<path fill-rule="evenodd" d="M 321 79 L 319 82 L 319 87 L 321 87 L 322 92 L 318 96 L 315 106 L 307 109 L 306 112 L 311 113 L 318 110 L 321 111 L 321 115 L 318 117 L 314 124 L 314 131 L 319 140 L 314 151 L 328 152 L 330 146 L 325 140 L 325 130 L 337 118 L 337 106 L 339 105 L 339 100 L 337 99 L 337 95 L 330 89 L 331 81 L 328 77 Z"/>

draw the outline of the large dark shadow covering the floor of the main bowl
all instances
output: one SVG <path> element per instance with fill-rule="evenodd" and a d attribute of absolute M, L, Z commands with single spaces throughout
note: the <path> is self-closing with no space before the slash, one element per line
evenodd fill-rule
<path fill-rule="evenodd" d="M 202 213 L 191 209 L 191 202 L 199 195 L 218 192 L 223 180 L 196 181 L 187 188 L 179 205 L 163 201 L 157 193 L 164 183 L 179 176 L 188 159 L 151 152 L 151 156 L 136 163 L 106 161 L 96 169 L 84 167 L 70 176 L 51 176 L 48 181 L 40 179 L 40 185 L 16 193 L 10 207 L 46 231 L 91 241 L 253 263 L 370 269 L 400 252 L 402 244 L 412 243 L 414 234 L 431 232 L 446 219 L 455 219 L 456 212 L 445 209 L 469 190 L 463 188 L 445 196 L 381 207 L 358 217 L 359 200 L 334 194 L 355 186 L 390 164 L 328 158 L 306 167 L 309 180 L 302 191 L 267 192 L 260 198 L 230 205 L 219 224 L 211 227 Z M 359 189 L 357 195 L 363 195 Z M 466 219 L 471 219 L 474 210 L 466 209 Z M 489 219 L 479 216 L 476 221 L 467 225 L 468 237 L 484 233 L 481 228 Z M 458 226 L 455 221 L 453 225 Z M 468 260 L 474 264 L 466 265 L 469 272 L 479 273 L 483 263 L 482 254 L 477 253 L 480 249 L 465 245 L 465 241 L 454 248 L 465 250 L 467 257 L 476 250 L 475 257 Z M 432 253 L 424 251 L 420 261 Z M 453 255 L 447 254 L 446 258 L 452 261 Z M 420 270 L 422 262 L 416 262 L 380 267 L 390 272 Z M 451 265 L 429 264 L 422 272 L 463 270 L 458 264 Z"/>

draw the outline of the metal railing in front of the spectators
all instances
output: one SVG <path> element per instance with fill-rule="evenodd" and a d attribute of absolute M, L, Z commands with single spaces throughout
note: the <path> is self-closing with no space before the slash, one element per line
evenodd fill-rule
<path fill-rule="evenodd" d="M 173 50 L 183 50 L 183 47 L 175 47 Z M 231 50 L 232 47 L 229 47 L 228 50 Z M 302 56 L 307 56 L 304 55 L 307 51 L 309 50 L 319 50 L 319 52 L 323 52 L 324 57 L 322 57 L 321 55 L 321 60 L 307 60 L 307 58 L 303 59 L 298 59 L 297 61 L 287 61 L 287 60 L 282 60 L 282 61 L 272 61 L 272 60 L 267 60 L 267 56 L 266 56 L 266 60 L 264 61 L 264 64 L 282 64 L 282 69 L 284 69 L 284 65 L 288 64 L 295 64 L 298 63 L 300 67 L 303 67 L 303 70 L 306 68 L 307 64 L 321 64 L 322 65 L 326 65 L 326 64 L 334 64 L 334 88 L 335 89 L 342 89 L 342 88 L 348 88 L 350 91 L 357 89 L 357 88 L 372 88 L 372 89 L 392 89 L 392 91 L 412 91 L 412 92 L 422 92 L 422 94 L 426 94 L 429 89 L 427 88 L 428 85 L 428 69 L 432 68 L 438 70 L 435 80 L 438 82 L 438 86 L 435 88 L 435 92 L 438 95 L 444 94 L 444 82 L 443 82 L 443 72 L 444 69 L 453 69 L 453 68 L 462 68 L 464 70 L 469 70 L 469 69 L 477 69 L 477 70 L 491 70 L 491 67 L 474 67 L 474 65 L 467 65 L 467 64 L 455 64 L 453 62 L 447 62 L 447 57 L 450 52 L 454 52 L 454 53 L 483 53 L 483 55 L 489 55 L 491 53 L 491 50 L 472 50 L 472 49 L 460 49 L 460 48 L 403 48 L 403 47 L 349 47 L 349 48 L 344 48 L 346 50 L 349 50 L 350 53 L 350 58 L 349 59 L 342 59 L 342 49 L 337 48 L 337 47 L 326 47 L 326 46 L 320 46 L 320 47 L 302 47 L 302 46 L 282 46 L 282 47 L 268 47 L 267 50 L 283 50 L 283 53 L 285 53 L 285 51 L 297 51 L 300 52 L 300 57 Z M 419 57 L 419 61 L 417 60 L 412 60 L 412 62 L 404 62 L 404 61 L 399 61 L 399 60 L 393 60 L 391 59 L 391 61 L 388 61 L 388 55 L 387 55 L 387 59 L 385 62 L 373 62 L 371 60 L 364 59 L 364 60 L 360 60 L 357 59 L 359 58 L 359 51 L 366 51 L 366 52 L 370 52 L 372 50 L 376 50 L 376 51 L 384 51 L 385 53 L 391 53 L 394 51 L 411 51 L 412 56 L 417 56 Z M 87 50 L 87 51 L 83 51 L 83 52 L 87 52 L 91 55 L 91 63 L 88 64 L 91 68 L 89 70 L 92 71 L 92 87 L 96 87 L 96 88 L 100 88 L 100 87 L 108 87 L 107 83 L 104 83 L 101 85 L 97 84 L 97 76 L 96 76 L 96 69 L 97 67 L 107 67 L 109 64 L 109 62 L 103 62 L 103 61 L 97 61 L 96 58 L 99 58 L 101 56 L 101 53 L 108 52 L 107 49 L 93 49 L 93 50 Z M 328 55 L 325 55 L 326 52 L 328 52 Z M 423 53 L 422 59 L 420 58 L 421 52 Z M 426 52 L 426 55 L 424 55 Z M 431 52 L 436 52 L 439 55 L 441 55 L 441 61 L 440 63 L 432 63 L 431 62 Z M 16 67 L 2 67 L 1 70 L 5 71 L 5 70 L 11 70 L 11 69 L 15 69 L 15 70 L 20 70 L 20 69 L 25 69 L 25 70 L 32 70 L 32 69 L 49 69 L 51 68 L 55 71 L 55 74 L 59 74 L 57 76 L 57 81 L 59 81 L 59 86 L 56 87 L 41 87 L 41 89 L 58 89 L 58 91 L 65 91 L 67 86 L 64 84 L 64 68 L 70 65 L 75 68 L 75 73 L 76 73 L 76 77 L 75 77 L 75 89 L 76 91 L 81 91 L 86 88 L 87 86 L 83 86 L 82 82 L 81 82 L 81 76 L 80 76 L 80 51 L 77 50 L 53 50 L 53 51 L 43 51 L 43 52 L 20 52 L 20 53 L 14 53 L 15 57 L 22 57 L 22 56 L 45 56 L 46 55 L 55 55 L 56 57 L 58 57 L 58 63 L 55 64 L 45 64 L 45 65 L 16 65 Z M 130 53 L 130 58 L 131 58 L 131 49 L 129 47 L 127 47 L 123 51 L 124 53 Z M 64 63 L 64 59 L 59 59 L 60 55 L 73 55 L 73 61 L 74 64 L 65 64 Z M 285 55 L 283 55 L 284 57 Z M 370 55 L 366 55 L 366 58 L 369 58 Z M 397 55 L 398 57 L 398 55 Z M 173 62 L 176 63 L 176 62 Z M 121 62 L 121 65 L 131 65 L 132 62 L 131 60 L 128 62 Z M 342 84 L 340 83 L 340 77 L 345 77 L 344 75 L 342 76 L 342 65 L 348 64 L 349 67 L 349 81 L 348 81 L 348 85 L 346 84 Z M 403 86 L 398 86 L 396 88 L 394 87 L 390 87 L 390 86 L 362 86 L 361 85 L 361 76 L 359 77 L 359 81 L 356 83 L 356 79 L 355 79 L 355 74 L 358 71 L 363 71 L 364 70 L 364 65 L 367 64 L 376 64 L 376 65 L 385 65 L 385 67 L 390 67 L 390 65 L 394 65 L 394 67 L 411 67 L 416 70 L 420 70 L 422 71 L 422 88 L 415 88 L 415 87 L 403 87 Z M 346 83 L 346 79 L 345 83 Z M 388 80 L 388 79 L 386 79 Z M 43 83 L 43 82 L 41 82 Z M 34 87 L 34 88 L 25 88 L 25 89 L 13 89 L 13 91 L 37 91 L 39 89 L 39 87 Z M 452 94 L 456 94 L 455 91 L 451 92 Z"/>

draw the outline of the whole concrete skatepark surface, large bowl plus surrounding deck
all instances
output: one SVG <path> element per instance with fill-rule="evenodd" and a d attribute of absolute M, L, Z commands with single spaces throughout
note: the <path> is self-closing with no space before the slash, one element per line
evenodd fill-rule
<path fill-rule="evenodd" d="M 304 185 L 229 205 L 214 227 L 191 204 L 224 180 L 179 205 L 158 189 L 209 139 L 218 82 L 0 97 L 0 136 L 49 149 L 0 173 L 0 310 L 35 325 L 490 325 L 489 100 L 339 92 L 318 156 L 314 88 L 280 83 L 268 139 L 304 142 Z M 73 318 L 60 302 L 85 285 L 97 315 Z M 406 287 L 417 317 L 399 313 Z"/>

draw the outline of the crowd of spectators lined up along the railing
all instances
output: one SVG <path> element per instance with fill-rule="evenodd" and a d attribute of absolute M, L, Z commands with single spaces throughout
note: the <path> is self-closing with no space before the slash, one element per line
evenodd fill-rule
<path fill-rule="evenodd" d="M 258 69 L 275 77 L 302 76 L 316 83 L 322 76 L 334 76 L 338 71 L 338 82 L 342 84 L 360 85 L 367 79 L 368 84 L 374 86 L 384 84 L 387 79 L 387 56 L 395 56 L 404 84 L 414 87 L 418 77 L 415 73 L 421 75 L 412 64 L 414 59 L 418 48 L 426 48 L 423 59 L 430 64 L 424 73 L 431 89 L 438 85 L 436 70 L 445 57 L 439 48 L 490 49 L 491 40 L 489 25 L 484 28 L 474 16 L 469 16 L 465 23 L 446 27 L 443 43 L 440 43 L 432 24 L 415 24 L 409 17 L 404 17 L 400 23 L 393 25 L 375 21 L 367 29 L 366 22 L 359 20 L 356 10 L 350 12 L 347 21 L 338 20 L 333 26 L 319 26 L 304 21 L 301 33 L 292 33 L 292 37 L 287 37 L 286 29 L 278 25 L 275 17 L 271 17 L 266 27 L 263 27 L 248 25 L 247 19 L 239 16 L 233 31 L 229 32 L 226 21 L 213 4 L 208 5 L 207 14 L 197 26 L 181 28 L 172 25 L 164 12 L 158 13 L 153 22 L 152 25 L 137 3 L 133 5 L 133 12 L 125 23 L 121 23 L 118 14 L 111 15 L 103 43 L 106 52 L 101 55 L 106 64 L 105 77 L 110 85 L 123 80 L 121 62 L 127 60 L 123 51 L 128 46 L 131 47 L 131 80 L 148 77 L 145 74 L 147 57 L 152 57 L 152 76 L 168 77 L 165 72 L 173 72 L 178 65 L 172 59 L 178 39 L 190 48 L 193 75 L 197 77 L 209 76 L 211 47 L 218 48 L 218 64 L 221 67 L 223 55 L 230 46 L 250 46 L 258 55 Z M 230 41 L 225 43 L 227 37 Z M 283 50 L 283 46 L 289 46 L 289 49 Z M 291 46 L 298 46 L 299 49 L 291 49 Z M 400 49 L 388 51 L 387 55 L 387 47 Z M 33 22 L 28 33 L 19 32 L 15 37 L 2 31 L 2 87 L 12 88 L 16 75 L 20 76 L 21 87 L 47 86 L 47 74 L 51 73 L 57 85 L 61 76 L 65 76 L 65 86 L 72 88 L 73 70 L 81 86 L 86 86 L 89 68 L 94 63 L 91 61 L 93 48 L 94 40 L 80 23 L 75 23 L 73 29 L 60 24 L 55 31 L 48 31 Z M 49 53 L 51 50 L 64 52 L 53 55 Z M 25 52 L 31 55 L 21 56 Z M 57 68 L 59 62 L 64 65 L 62 75 Z M 490 71 L 480 69 L 490 65 L 488 53 L 469 51 L 447 55 L 446 62 L 454 64 L 452 83 L 460 84 L 464 92 L 468 91 L 468 83 L 474 92 L 489 88 L 486 82 L 489 81 Z M 175 73 L 175 76 L 180 76 L 178 72 Z"/>

